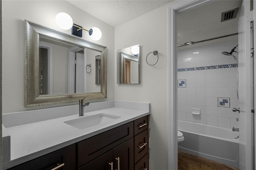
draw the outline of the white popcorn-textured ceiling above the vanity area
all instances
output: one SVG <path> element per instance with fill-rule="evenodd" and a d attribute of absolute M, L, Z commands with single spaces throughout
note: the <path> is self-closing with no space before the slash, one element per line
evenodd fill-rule
<path fill-rule="evenodd" d="M 173 0 L 67 0 L 70 4 L 73 4 L 114 27 L 160 8 L 172 1 Z"/>

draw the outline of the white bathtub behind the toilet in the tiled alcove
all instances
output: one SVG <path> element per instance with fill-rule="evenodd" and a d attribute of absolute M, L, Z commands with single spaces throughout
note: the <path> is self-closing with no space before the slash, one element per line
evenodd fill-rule
<path fill-rule="evenodd" d="M 178 130 L 185 138 L 178 150 L 239 168 L 239 132 L 180 120 Z"/>

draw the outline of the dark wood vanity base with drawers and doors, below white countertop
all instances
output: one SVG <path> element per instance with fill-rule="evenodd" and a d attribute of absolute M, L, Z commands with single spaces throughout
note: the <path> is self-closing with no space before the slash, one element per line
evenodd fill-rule
<path fill-rule="evenodd" d="M 59 167 L 56 170 L 148 170 L 148 116 L 9 170 L 56 167 Z"/>

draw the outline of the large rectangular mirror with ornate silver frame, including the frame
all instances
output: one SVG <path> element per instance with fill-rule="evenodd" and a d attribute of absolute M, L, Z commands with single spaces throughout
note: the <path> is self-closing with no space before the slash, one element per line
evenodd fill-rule
<path fill-rule="evenodd" d="M 105 99 L 106 57 L 103 45 L 25 20 L 25 107 Z"/>

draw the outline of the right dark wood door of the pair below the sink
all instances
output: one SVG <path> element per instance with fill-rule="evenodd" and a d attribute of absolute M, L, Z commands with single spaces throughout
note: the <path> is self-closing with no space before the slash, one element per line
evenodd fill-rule
<path fill-rule="evenodd" d="M 134 142 L 133 141 L 134 141 L 134 138 L 131 138 L 113 149 L 114 170 L 133 170 L 133 166 L 134 166 Z"/>

